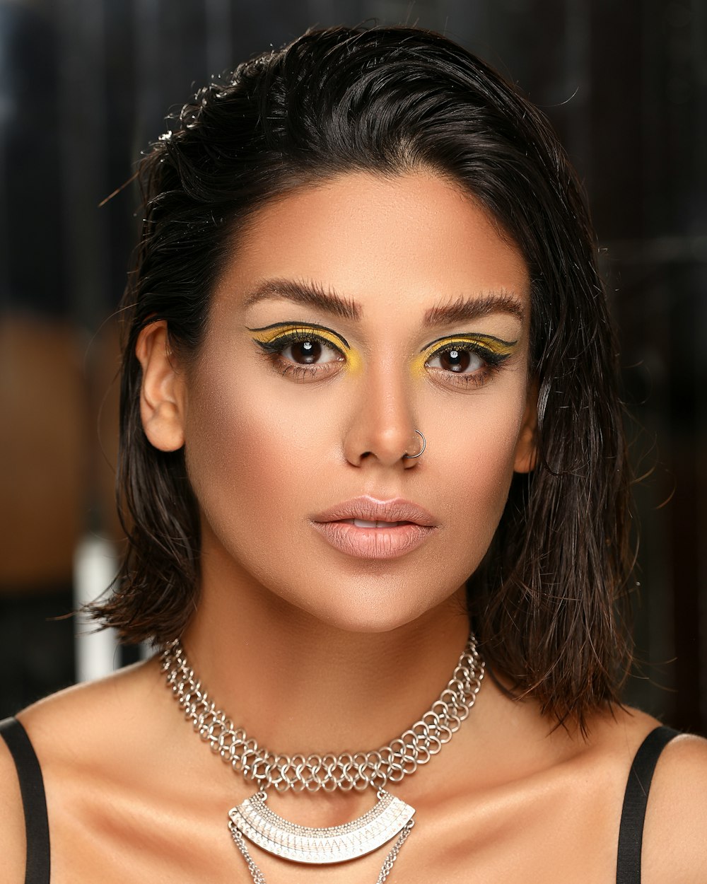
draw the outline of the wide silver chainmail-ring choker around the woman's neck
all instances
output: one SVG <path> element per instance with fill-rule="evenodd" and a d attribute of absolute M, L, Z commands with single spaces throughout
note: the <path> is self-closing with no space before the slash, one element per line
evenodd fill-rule
<path fill-rule="evenodd" d="M 261 748 L 243 728 L 234 728 L 232 720 L 201 689 L 179 639 L 163 651 L 162 668 L 185 717 L 192 721 L 201 739 L 209 743 L 211 751 L 217 752 L 246 780 L 255 781 L 259 789 L 271 786 L 278 792 L 362 791 L 369 786 L 383 789 L 387 783 L 399 782 L 427 764 L 449 743 L 475 704 L 484 674 L 483 660 L 472 634 L 445 690 L 404 734 L 377 751 L 304 756 L 277 755 Z"/>

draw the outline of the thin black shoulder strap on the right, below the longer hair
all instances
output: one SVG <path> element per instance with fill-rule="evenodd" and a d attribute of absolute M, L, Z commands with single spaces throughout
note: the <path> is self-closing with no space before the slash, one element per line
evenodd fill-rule
<path fill-rule="evenodd" d="M 656 728 L 643 740 L 628 773 L 626 795 L 619 828 L 619 856 L 616 884 L 641 884 L 641 846 L 648 790 L 660 753 L 678 731 Z"/>

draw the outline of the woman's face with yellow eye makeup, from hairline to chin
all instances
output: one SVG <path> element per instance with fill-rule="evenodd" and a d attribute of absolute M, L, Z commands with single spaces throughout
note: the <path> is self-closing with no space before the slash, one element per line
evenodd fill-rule
<path fill-rule="evenodd" d="M 430 173 L 342 175 L 260 210 L 179 381 L 202 591 L 353 631 L 460 591 L 531 466 L 528 287 L 518 249 Z M 405 458 L 415 430 L 427 447 Z"/>

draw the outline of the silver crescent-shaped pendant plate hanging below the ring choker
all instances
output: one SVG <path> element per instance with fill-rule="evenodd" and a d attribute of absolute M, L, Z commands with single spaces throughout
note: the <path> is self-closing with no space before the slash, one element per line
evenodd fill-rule
<path fill-rule="evenodd" d="M 248 841 L 276 857 L 295 863 L 345 863 L 389 842 L 414 816 L 414 807 L 378 790 L 378 802 L 368 813 L 343 826 L 309 828 L 277 816 L 258 792 L 232 808 L 229 817 Z"/>

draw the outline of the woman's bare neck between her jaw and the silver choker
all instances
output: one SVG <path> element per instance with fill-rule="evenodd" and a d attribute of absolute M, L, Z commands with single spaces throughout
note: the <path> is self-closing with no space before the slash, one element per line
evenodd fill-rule
<path fill-rule="evenodd" d="M 384 633 L 338 629 L 261 585 L 202 574 L 183 644 L 204 690 L 234 726 L 277 753 L 368 751 L 418 720 L 468 638 L 461 590 Z"/>

